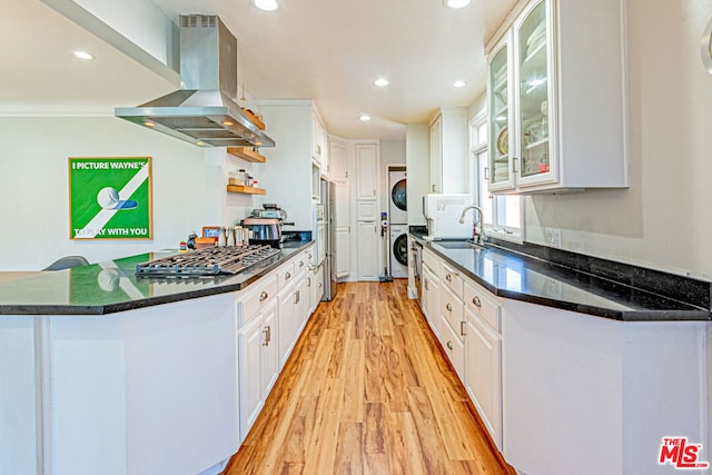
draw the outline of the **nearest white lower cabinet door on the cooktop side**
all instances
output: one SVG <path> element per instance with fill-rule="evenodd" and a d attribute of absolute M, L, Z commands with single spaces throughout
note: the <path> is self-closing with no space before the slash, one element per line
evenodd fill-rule
<path fill-rule="evenodd" d="M 257 317 L 237 334 L 241 439 L 247 436 L 264 402 L 260 384 L 261 324 L 261 318 Z"/>

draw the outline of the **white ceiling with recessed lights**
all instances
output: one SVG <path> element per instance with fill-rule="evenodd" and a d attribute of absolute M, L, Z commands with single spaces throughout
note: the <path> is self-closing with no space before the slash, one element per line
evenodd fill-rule
<path fill-rule="evenodd" d="M 237 37 L 239 76 L 257 99 L 314 99 L 330 133 L 403 139 L 437 107 L 468 106 L 485 88 L 484 42 L 516 0 L 155 0 L 180 13 L 218 14 Z M 38 0 L 0 0 L 0 113 L 112 113 L 176 85 Z M 19 48 L 9 48 L 17 44 Z M 89 49 L 97 59 L 71 56 Z M 386 88 L 373 80 L 385 77 Z M 461 89 L 455 80 L 466 81 Z M 367 113 L 370 122 L 360 122 Z"/>

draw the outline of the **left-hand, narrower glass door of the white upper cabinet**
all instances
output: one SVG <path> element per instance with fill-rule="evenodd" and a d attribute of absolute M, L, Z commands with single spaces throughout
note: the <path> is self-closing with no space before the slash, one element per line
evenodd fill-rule
<path fill-rule="evenodd" d="M 513 189 L 516 184 L 512 167 L 514 149 L 512 141 L 515 131 L 512 129 L 512 48 L 511 36 L 506 34 L 502 43 L 488 58 L 487 75 L 487 110 L 490 111 L 490 167 L 487 170 L 488 189 L 491 191 Z"/>

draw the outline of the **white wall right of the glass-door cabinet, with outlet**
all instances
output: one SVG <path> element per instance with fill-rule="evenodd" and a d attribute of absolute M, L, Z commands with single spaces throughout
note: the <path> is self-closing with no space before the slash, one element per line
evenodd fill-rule
<path fill-rule="evenodd" d="M 526 240 L 561 228 L 567 250 L 712 280 L 711 17 L 708 0 L 627 0 L 631 187 L 526 198 Z"/>

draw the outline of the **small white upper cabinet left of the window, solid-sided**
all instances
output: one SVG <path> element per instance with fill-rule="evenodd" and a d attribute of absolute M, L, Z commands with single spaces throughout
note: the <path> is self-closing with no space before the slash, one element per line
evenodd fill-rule
<path fill-rule="evenodd" d="M 467 109 L 441 109 L 431 121 L 429 192 L 468 192 Z"/>

